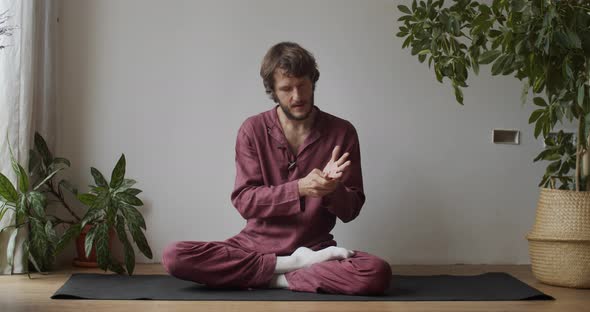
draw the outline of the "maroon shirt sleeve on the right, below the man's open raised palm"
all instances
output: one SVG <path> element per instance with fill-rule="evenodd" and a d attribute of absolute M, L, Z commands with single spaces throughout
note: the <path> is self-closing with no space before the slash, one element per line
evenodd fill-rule
<path fill-rule="evenodd" d="M 322 198 L 328 211 L 344 223 L 354 220 L 365 203 L 358 135 L 354 126 L 351 125 L 350 129 L 342 149 L 342 154 L 349 153 L 350 166 L 336 190 Z"/>

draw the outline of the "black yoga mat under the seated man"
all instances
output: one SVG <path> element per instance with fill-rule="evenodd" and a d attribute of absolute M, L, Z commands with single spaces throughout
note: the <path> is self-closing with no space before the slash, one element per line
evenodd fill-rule
<path fill-rule="evenodd" d="M 209 301 L 505 301 L 552 300 L 506 273 L 475 276 L 394 275 L 384 296 L 315 294 L 278 289 L 211 289 L 168 275 L 73 274 L 52 299 Z"/>

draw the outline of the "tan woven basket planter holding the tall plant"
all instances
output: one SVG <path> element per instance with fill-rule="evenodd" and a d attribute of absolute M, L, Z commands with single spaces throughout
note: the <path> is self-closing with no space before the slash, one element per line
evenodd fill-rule
<path fill-rule="evenodd" d="M 539 281 L 590 288 L 590 192 L 542 188 L 527 239 Z"/>

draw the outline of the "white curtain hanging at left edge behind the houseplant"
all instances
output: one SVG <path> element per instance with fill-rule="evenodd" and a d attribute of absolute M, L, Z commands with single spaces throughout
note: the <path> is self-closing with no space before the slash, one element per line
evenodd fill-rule
<path fill-rule="evenodd" d="M 35 131 L 46 139 L 50 149 L 55 143 L 55 49 L 57 41 L 58 0 L 0 0 L 0 13 L 10 19 L 2 26 L 14 25 L 12 36 L 0 37 L 0 172 L 13 183 L 7 144 L 17 161 L 28 167 L 29 149 Z M 0 228 L 13 224 L 9 211 Z M 0 234 L 0 274 L 10 274 L 7 244 L 10 231 Z M 27 233 L 17 236 L 14 272 L 24 271 L 22 243 Z"/>

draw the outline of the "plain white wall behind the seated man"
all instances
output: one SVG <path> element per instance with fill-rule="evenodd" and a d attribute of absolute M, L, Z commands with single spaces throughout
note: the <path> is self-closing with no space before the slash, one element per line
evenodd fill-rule
<path fill-rule="evenodd" d="M 464 107 L 402 50 L 397 1 L 63 0 L 58 154 L 85 187 L 121 153 L 146 203 L 159 262 L 174 240 L 223 240 L 245 224 L 229 196 L 241 122 L 274 104 L 266 50 L 296 41 L 317 58 L 316 103 L 350 120 L 367 201 L 334 230 L 392 264 L 528 263 L 544 170 L 515 78 L 469 81 Z M 521 145 L 491 143 L 517 128 Z M 140 257 L 139 261 L 149 262 Z"/>

